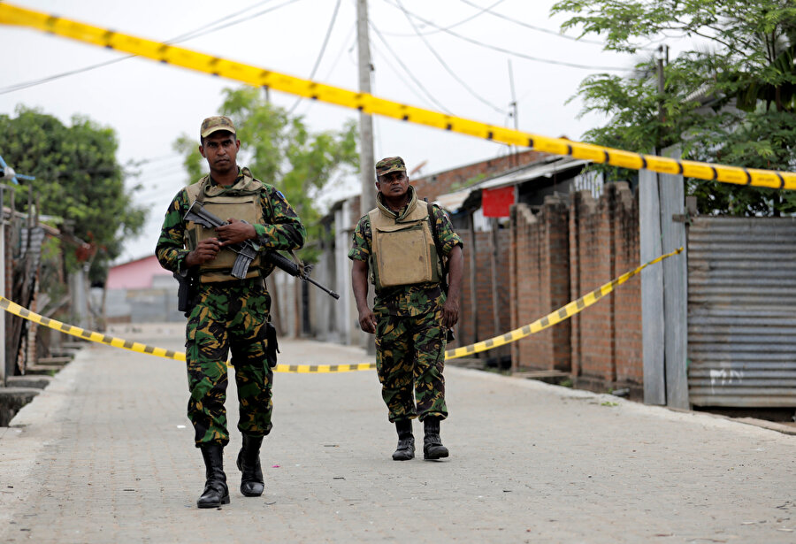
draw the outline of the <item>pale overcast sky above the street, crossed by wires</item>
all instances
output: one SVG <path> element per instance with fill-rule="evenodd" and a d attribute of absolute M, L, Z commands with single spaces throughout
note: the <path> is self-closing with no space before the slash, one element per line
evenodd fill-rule
<path fill-rule="evenodd" d="M 416 16 L 411 19 L 414 26 L 399 2 Z M 320 58 L 313 80 L 357 88 L 356 0 L 18 0 L 11 4 L 161 42 L 202 29 L 210 32 L 179 45 L 305 79 Z M 626 69 L 634 58 L 604 52 L 594 43 L 599 41 L 596 36 L 576 42 L 555 35 L 564 18 L 549 18 L 553 4 L 553 0 L 370 0 L 372 92 L 434 111 L 444 108 L 465 119 L 514 126 L 508 113 L 510 59 L 519 128 L 577 140 L 601 122 L 593 116 L 578 119 L 582 104 L 577 99 L 567 103 L 578 83 L 608 67 Z M 240 15 L 229 18 L 237 12 Z M 214 23 L 235 24 L 217 28 Z M 328 43 L 322 49 L 327 33 Z M 25 104 L 66 123 L 73 115 L 88 116 L 116 130 L 121 164 L 150 161 L 140 177 L 128 180 L 130 186 L 142 184 L 135 198 L 149 209 L 149 220 L 143 234 L 127 242 L 119 262 L 150 255 L 165 208 L 187 181 L 172 142 L 180 134 L 194 136 L 202 119 L 218 111 L 222 89 L 240 84 L 129 58 L 8 92 L 19 83 L 123 54 L 20 27 L 0 28 L 0 50 L 4 51 L 0 112 L 12 115 L 18 104 Z M 295 113 L 315 130 L 339 128 L 346 119 L 358 118 L 356 111 L 324 103 L 295 105 L 296 98 L 286 94 L 272 92 L 271 98 L 288 109 L 295 106 Z M 424 175 L 507 153 L 501 144 L 392 119 L 375 118 L 374 130 L 377 159 L 401 155 L 409 169 L 425 163 L 420 172 Z M 358 184 L 356 178 L 346 180 L 333 195 L 356 193 Z"/>

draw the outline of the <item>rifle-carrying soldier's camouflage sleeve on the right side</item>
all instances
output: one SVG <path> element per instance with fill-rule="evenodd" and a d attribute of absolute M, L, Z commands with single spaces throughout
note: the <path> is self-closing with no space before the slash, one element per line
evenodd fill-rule
<path fill-rule="evenodd" d="M 263 249 L 300 249 L 307 233 L 285 195 L 272 185 L 263 184 L 260 203 L 264 224 L 255 225 L 260 246 Z"/>

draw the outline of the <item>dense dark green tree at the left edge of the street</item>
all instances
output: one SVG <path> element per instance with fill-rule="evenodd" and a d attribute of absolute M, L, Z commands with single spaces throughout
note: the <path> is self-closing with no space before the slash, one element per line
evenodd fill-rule
<path fill-rule="evenodd" d="M 15 114 L 0 115 L 0 155 L 17 172 L 35 176 L 29 183 L 40 196 L 42 214 L 62 218 L 61 228 L 93 244 L 89 277 L 103 281 L 125 239 L 138 234 L 146 218 L 125 189 L 116 134 L 80 116 L 65 126 L 24 106 Z M 27 199 L 17 203 L 25 206 Z M 68 266 L 77 264 L 73 250 L 65 249 L 65 255 Z"/>

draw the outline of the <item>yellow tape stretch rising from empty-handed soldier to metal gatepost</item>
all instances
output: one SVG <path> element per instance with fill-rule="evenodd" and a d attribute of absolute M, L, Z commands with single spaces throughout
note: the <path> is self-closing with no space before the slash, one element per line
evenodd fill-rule
<path fill-rule="evenodd" d="M 648 263 L 642 264 L 639 268 L 635 270 L 631 270 L 630 272 L 625 272 L 616 280 L 610 280 L 608 283 L 601 287 L 597 287 L 591 293 L 581 296 L 578 298 L 577 301 L 573 301 L 566 306 L 562 306 L 558 310 L 552 311 L 547 314 L 544 318 L 537 319 L 530 325 L 526 325 L 511 331 L 510 333 L 502 334 L 501 336 L 495 336 L 494 338 L 490 338 L 489 340 L 480 341 L 475 344 L 471 344 L 469 346 L 464 346 L 463 348 L 456 348 L 456 349 L 448 349 L 445 352 L 446 359 L 455 359 L 456 357 L 463 357 L 468 356 L 473 353 L 478 353 L 480 351 L 486 351 L 487 349 L 497 348 L 499 346 L 503 346 L 508 344 L 509 342 L 520 340 L 525 336 L 530 336 L 533 333 L 539 333 L 540 331 L 545 330 L 548 326 L 554 326 L 556 323 L 561 323 L 565 319 L 569 319 L 575 314 L 581 312 L 582 310 L 588 308 L 593 303 L 599 301 L 603 296 L 608 295 L 617 285 L 622 285 L 625 281 L 630 280 L 633 276 L 647 268 L 650 264 L 660 263 L 666 257 L 671 257 L 673 255 L 677 255 L 677 253 L 681 253 L 683 248 L 678 248 L 672 251 L 671 253 L 667 253 L 662 255 L 661 257 L 657 257 L 651 260 Z"/>

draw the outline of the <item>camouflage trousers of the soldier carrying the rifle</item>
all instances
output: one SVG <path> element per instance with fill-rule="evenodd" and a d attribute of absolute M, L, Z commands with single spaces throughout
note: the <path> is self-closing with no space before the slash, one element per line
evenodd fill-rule
<path fill-rule="evenodd" d="M 266 361 L 271 296 L 262 280 L 203 284 L 188 318 L 188 419 L 196 447 L 226 446 L 227 355 L 232 353 L 241 433 L 271 432 L 273 372 Z"/>

